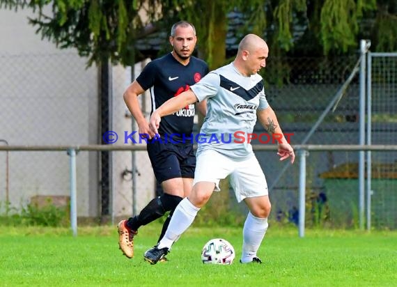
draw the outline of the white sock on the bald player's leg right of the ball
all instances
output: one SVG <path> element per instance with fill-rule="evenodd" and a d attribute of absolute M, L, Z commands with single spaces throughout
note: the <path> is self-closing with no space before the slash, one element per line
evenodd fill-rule
<path fill-rule="evenodd" d="M 265 237 L 267 226 L 269 226 L 267 218 L 254 217 L 251 212 L 248 213 L 242 230 L 242 263 L 249 263 L 252 258 L 256 257 L 260 243 Z"/>

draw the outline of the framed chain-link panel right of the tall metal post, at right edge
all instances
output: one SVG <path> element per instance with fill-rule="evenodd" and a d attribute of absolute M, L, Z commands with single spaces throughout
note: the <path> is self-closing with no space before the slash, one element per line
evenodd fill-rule
<path fill-rule="evenodd" d="M 367 143 L 397 142 L 397 53 L 368 53 Z M 371 98 L 369 98 L 371 97 Z M 393 153 L 372 152 L 367 156 L 371 180 L 367 198 L 373 226 L 397 228 L 397 158 Z"/>

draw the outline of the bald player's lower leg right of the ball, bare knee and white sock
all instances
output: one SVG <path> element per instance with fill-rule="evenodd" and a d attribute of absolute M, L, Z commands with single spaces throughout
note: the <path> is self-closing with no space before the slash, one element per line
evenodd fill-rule
<path fill-rule="evenodd" d="M 258 196 L 244 199 L 250 212 L 243 228 L 242 256 L 240 263 L 262 263 L 256 252 L 267 231 L 267 217 L 270 215 L 271 205 L 269 196 Z"/>

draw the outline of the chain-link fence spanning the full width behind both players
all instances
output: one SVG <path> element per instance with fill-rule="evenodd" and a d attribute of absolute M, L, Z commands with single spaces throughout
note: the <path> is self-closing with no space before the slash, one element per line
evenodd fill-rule
<path fill-rule="evenodd" d="M 358 59 L 357 55 L 270 59 L 263 75 L 265 92 L 293 144 L 307 139 Z M 132 72 L 123 67 L 86 69 L 85 60 L 74 53 L 8 55 L 0 56 L 0 61 L 1 145 L 100 144 L 104 143 L 102 135 L 110 130 L 118 134 L 117 144 L 131 144 L 124 142 L 124 133 L 137 127 L 123 102 L 123 91 L 145 63 L 137 63 Z M 372 143 L 395 143 L 396 57 L 373 59 L 373 69 Z M 143 95 L 140 100 L 148 116 L 150 98 Z M 256 132 L 264 131 L 257 125 Z M 359 143 L 358 74 L 306 143 Z M 283 171 L 285 163 L 279 162 L 275 152 L 256 151 L 256 155 L 271 187 L 272 219 L 297 224 L 299 164 Z M 396 228 L 396 156 L 391 152 L 372 153 L 371 210 L 376 227 Z M 310 153 L 307 224 L 357 226 L 358 162 L 358 152 Z M 68 179 L 66 153 L 0 153 L 2 207 L 7 200 L 18 208 L 33 196 L 68 196 Z M 79 217 L 131 215 L 153 197 L 155 187 L 144 151 L 77 155 Z"/>

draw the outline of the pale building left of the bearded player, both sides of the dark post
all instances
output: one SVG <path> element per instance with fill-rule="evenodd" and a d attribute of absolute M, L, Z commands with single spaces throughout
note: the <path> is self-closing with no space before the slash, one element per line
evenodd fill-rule
<path fill-rule="evenodd" d="M 86 146 L 101 143 L 100 70 L 86 68 L 75 49 L 58 49 L 35 33 L 30 12 L 0 10 L 0 144 L 10 146 Z M 135 65 L 134 75 L 144 63 Z M 123 91 L 132 81 L 130 68 L 110 69 L 109 122 L 120 136 L 132 132 Z M 148 95 L 141 97 L 150 101 Z M 146 105 L 147 114 L 150 104 Z M 137 152 L 137 207 L 153 197 L 155 180 L 145 152 Z M 79 217 L 125 217 L 132 213 L 132 153 L 111 153 L 110 192 L 102 202 L 100 153 L 77 154 Z M 8 171 L 8 172 L 7 172 Z M 20 208 L 33 196 L 68 196 L 69 158 L 61 152 L 0 153 L 0 203 Z M 5 208 L 4 204 L 0 205 Z M 103 208 L 107 212 L 103 212 Z"/>

